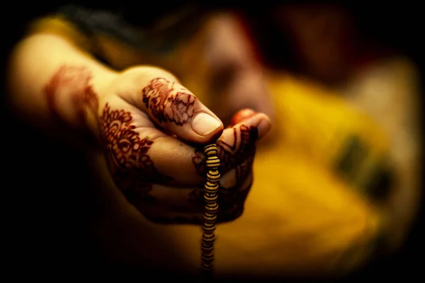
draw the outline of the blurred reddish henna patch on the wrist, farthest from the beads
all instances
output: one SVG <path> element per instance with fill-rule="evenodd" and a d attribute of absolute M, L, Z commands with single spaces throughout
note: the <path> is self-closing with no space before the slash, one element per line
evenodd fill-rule
<path fill-rule="evenodd" d="M 78 125 L 86 122 L 86 110 L 96 113 L 98 109 L 98 96 L 91 86 L 91 72 L 86 67 L 62 66 L 52 76 L 52 79 L 45 86 L 47 103 L 52 114 L 57 118 L 57 122 L 64 121 L 63 114 L 60 113 L 58 105 L 59 93 L 68 96 L 71 102 L 72 114 L 76 118 Z M 67 121 L 67 124 L 71 122 Z"/>

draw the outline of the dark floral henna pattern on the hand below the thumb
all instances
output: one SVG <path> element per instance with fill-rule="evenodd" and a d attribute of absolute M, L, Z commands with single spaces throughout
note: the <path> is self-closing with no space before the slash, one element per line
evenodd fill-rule
<path fill-rule="evenodd" d="M 135 132 L 130 112 L 111 110 L 108 103 L 99 120 L 108 168 L 115 185 L 136 207 L 157 202 L 149 195 L 152 183 L 165 183 L 171 178 L 157 171 L 148 154 L 154 141 L 149 137 L 141 138 Z"/>

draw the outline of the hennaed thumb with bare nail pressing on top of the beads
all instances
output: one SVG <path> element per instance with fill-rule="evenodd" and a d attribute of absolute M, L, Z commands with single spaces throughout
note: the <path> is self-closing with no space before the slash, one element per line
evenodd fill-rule
<path fill-rule="evenodd" d="M 160 127 L 196 144 L 207 144 L 222 134 L 220 119 L 168 72 L 146 67 L 127 73 L 133 86 L 127 86 L 130 91 L 120 96 L 145 111 Z"/>

